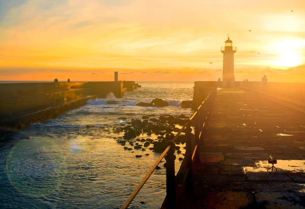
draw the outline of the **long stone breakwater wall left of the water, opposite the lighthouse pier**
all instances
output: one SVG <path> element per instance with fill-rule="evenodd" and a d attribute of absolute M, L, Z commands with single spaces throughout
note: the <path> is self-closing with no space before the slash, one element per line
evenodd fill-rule
<path fill-rule="evenodd" d="M 89 99 L 105 98 L 111 92 L 121 98 L 137 87 L 134 81 L 2 83 L 0 126 L 23 128 L 83 106 Z"/>

